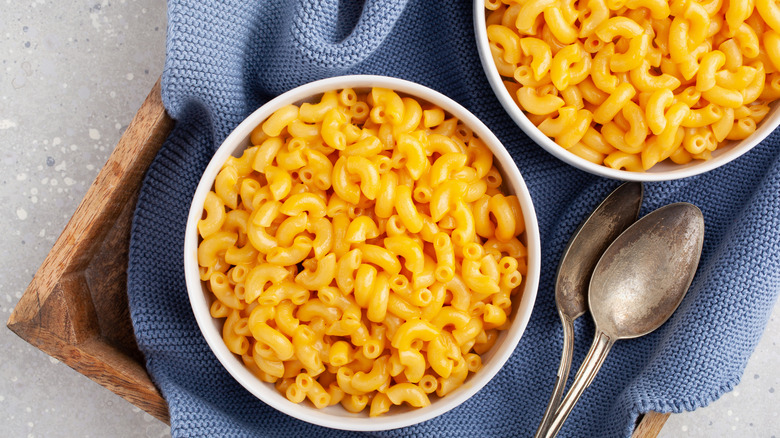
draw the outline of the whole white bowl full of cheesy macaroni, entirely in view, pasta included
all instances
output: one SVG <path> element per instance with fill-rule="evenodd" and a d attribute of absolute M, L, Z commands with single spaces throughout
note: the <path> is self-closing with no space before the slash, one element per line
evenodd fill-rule
<path fill-rule="evenodd" d="M 440 415 L 498 372 L 530 318 L 540 245 L 495 136 L 411 82 L 345 76 L 270 101 L 193 198 L 198 325 L 247 390 L 347 430 Z"/>

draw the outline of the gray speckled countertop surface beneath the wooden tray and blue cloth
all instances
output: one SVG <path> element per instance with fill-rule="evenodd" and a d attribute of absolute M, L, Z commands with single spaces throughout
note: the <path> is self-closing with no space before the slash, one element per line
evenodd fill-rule
<path fill-rule="evenodd" d="M 165 2 L 0 0 L 0 319 L 162 72 Z M 3 324 L 4 325 L 4 324 Z M 780 437 L 780 306 L 742 382 L 662 437 Z M 0 329 L 4 437 L 166 436 L 169 428 Z"/>

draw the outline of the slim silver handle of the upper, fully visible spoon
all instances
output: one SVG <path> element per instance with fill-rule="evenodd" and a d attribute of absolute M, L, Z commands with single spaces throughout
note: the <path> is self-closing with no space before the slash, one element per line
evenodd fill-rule
<path fill-rule="evenodd" d="M 590 351 L 588 351 L 588 355 L 585 356 L 585 360 L 582 361 L 582 365 L 574 377 L 571 389 L 569 389 L 568 394 L 561 402 L 561 406 L 555 412 L 555 416 L 550 420 L 550 427 L 545 435 L 546 438 L 554 438 L 561 430 L 563 422 L 566 421 L 566 418 L 574 409 L 574 404 L 577 403 L 585 388 L 590 385 L 593 377 L 601 368 L 614 342 L 604 332 L 597 330 L 593 344 L 590 346 Z"/>

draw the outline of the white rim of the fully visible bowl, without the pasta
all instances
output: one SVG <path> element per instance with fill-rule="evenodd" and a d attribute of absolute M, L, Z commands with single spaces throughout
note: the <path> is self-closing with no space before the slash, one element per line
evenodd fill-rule
<path fill-rule="evenodd" d="M 214 179 L 228 156 L 231 154 L 240 155 L 249 145 L 249 135 L 255 126 L 279 107 L 291 103 L 311 101 L 325 91 L 346 87 L 359 91 L 375 86 L 389 88 L 400 94 L 438 105 L 472 128 L 474 133 L 484 140 L 485 144 L 493 151 L 494 165 L 504 176 L 508 191 L 516 194 L 519 198 L 525 216 L 528 275 L 525 278 L 522 299 L 515 303 L 512 326 L 501 332 L 495 346 L 482 356 L 484 366 L 480 371 L 470 376 L 463 386 L 447 396 L 441 399 L 432 397 L 432 403 L 428 407 L 420 409 L 397 407 L 383 416 L 369 418 L 365 412 L 352 414 L 338 405 L 315 409 L 308 402 L 291 403 L 277 392 L 273 385 L 260 381 L 245 368 L 241 359 L 231 353 L 222 341 L 222 322 L 212 318 L 209 313 L 212 298 L 205 288 L 205 283 L 200 281 L 196 254 L 198 248 L 197 222 L 201 218 L 206 194 L 211 190 Z M 184 271 L 192 310 L 203 336 L 225 369 L 249 392 L 285 414 L 320 426 L 361 431 L 394 429 L 429 420 L 458 406 L 485 386 L 512 354 L 525 330 L 536 298 L 540 259 L 539 230 L 531 197 L 514 160 L 498 139 L 474 115 L 448 97 L 422 85 L 381 76 L 342 76 L 312 82 L 282 94 L 252 113 L 225 139 L 201 177 L 190 207 L 184 242 Z"/>

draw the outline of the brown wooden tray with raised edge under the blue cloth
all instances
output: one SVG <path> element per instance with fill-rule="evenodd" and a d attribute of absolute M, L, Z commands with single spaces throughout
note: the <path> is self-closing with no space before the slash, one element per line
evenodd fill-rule
<path fill-rule="evenodd" d="M 127 256 L 141 181 L 173 125 L 158 80 L 8 320 L 25 341 L 166 423 L 130 322 Z M 633 437 L 656 437 L 668 417 L 644 415 Z"/>

